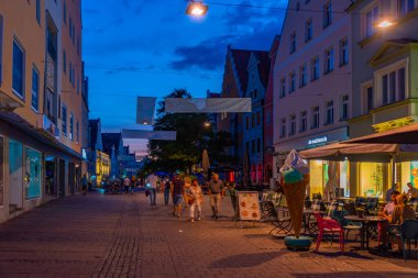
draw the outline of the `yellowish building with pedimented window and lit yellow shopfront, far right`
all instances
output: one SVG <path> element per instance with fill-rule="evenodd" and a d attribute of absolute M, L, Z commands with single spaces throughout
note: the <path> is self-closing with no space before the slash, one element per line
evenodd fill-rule
<path fill-rule="evenodd" d="M 349 9 L 355 56 L 351 137 L 417 122 L 417 8 L 416 0 L 364 0 L 355 1 Z M 380 27 L 384 21 L 392 25 Z M 414 157 L 399 162 L 394 157 L 391 163 L 353 163 L 354 193 L 382 197 L 393 182 L 400 182 L 406 191 L 406 184 L 414 182 L 418 166 Z"/>

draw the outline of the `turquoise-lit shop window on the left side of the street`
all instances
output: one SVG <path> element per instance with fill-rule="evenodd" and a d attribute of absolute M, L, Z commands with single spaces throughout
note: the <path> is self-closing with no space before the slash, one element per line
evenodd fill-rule
<path fill-rule="evenodd" d="M 42 158 L 41 153 L 26 147 L 25 165 L 25 196 L 26 199 L 38 198 L 41 196 Z"/>

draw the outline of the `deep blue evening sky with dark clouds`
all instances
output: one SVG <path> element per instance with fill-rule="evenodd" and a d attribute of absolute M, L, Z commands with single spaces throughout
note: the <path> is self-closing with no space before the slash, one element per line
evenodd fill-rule
<path fill-rule="evenodd" d="M 228 44 L 268 49 L 287 0 L 213 0 L 202 20 L 185 15 L 185 0 L 84 0 L 82 51 L 89 76 L 90 119 L 103 131 L 135 124 L 138 96 L 164 97 L 186 88 L 194 97 L 220 91 Z M 116 4 L 118 3 L 118 4 Z M 145 151 L 144 141 L 125 141 Z"/>

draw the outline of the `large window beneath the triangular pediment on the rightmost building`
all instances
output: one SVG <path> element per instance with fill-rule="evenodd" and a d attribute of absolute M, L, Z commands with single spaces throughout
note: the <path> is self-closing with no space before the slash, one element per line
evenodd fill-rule
<path fill-rule="evenodd" d="M 389 104 L 406 98 L 405 67 L 382 76 L 383 104 Z"/>

